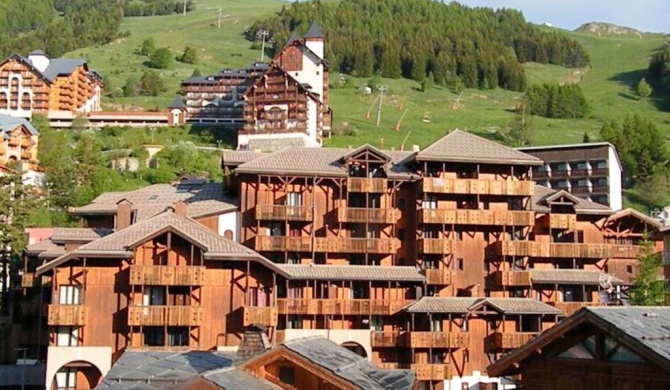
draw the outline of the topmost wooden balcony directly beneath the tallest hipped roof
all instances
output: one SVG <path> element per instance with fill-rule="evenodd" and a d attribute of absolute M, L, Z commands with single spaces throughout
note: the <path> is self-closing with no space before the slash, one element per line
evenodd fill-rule
<path fill-rule="evenodd" d="M 438 194 L 531 196 L 535 189 L 532 181 L 425 177 L 422 183 L 423 192 Z"/>

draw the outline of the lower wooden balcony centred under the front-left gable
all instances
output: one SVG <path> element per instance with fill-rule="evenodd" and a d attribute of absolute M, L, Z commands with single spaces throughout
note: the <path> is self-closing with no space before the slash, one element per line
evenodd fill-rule
<path fill-rule="evenodd" d="M 198 306 L 130 306 L 131 326 L 200 326 L 202 308 Z"/>

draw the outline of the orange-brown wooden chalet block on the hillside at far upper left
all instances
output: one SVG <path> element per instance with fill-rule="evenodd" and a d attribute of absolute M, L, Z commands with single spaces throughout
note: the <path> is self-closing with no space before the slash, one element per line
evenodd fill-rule
<path fill-rule="evenodd" d="M 85 60 L 49 58 L 35 50 L 0 63 L 0 114 L 90 113 L 100 110 L 101 96 L 102 78 Z"/>

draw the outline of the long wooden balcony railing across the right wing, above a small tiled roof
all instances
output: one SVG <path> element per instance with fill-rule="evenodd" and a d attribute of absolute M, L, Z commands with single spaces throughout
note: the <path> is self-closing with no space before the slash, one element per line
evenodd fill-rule
<path fill-rule="evenodd" d="M 497 256 L 529 256 L 555 258 L 637 258 L 638 245 L 581 244 L 534 241 L 498 241 L 492 244 Z"/>

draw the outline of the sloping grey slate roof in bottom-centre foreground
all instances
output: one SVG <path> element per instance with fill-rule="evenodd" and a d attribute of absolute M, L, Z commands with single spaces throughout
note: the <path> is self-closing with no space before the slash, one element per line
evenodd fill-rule
<path fill-rule="evenodd" d="M 380 369 L 368 359 L 323 337 L 286 341 L 282 346 L 360 389 L 410 390 L 414 384 L 411 370 Z"/>

